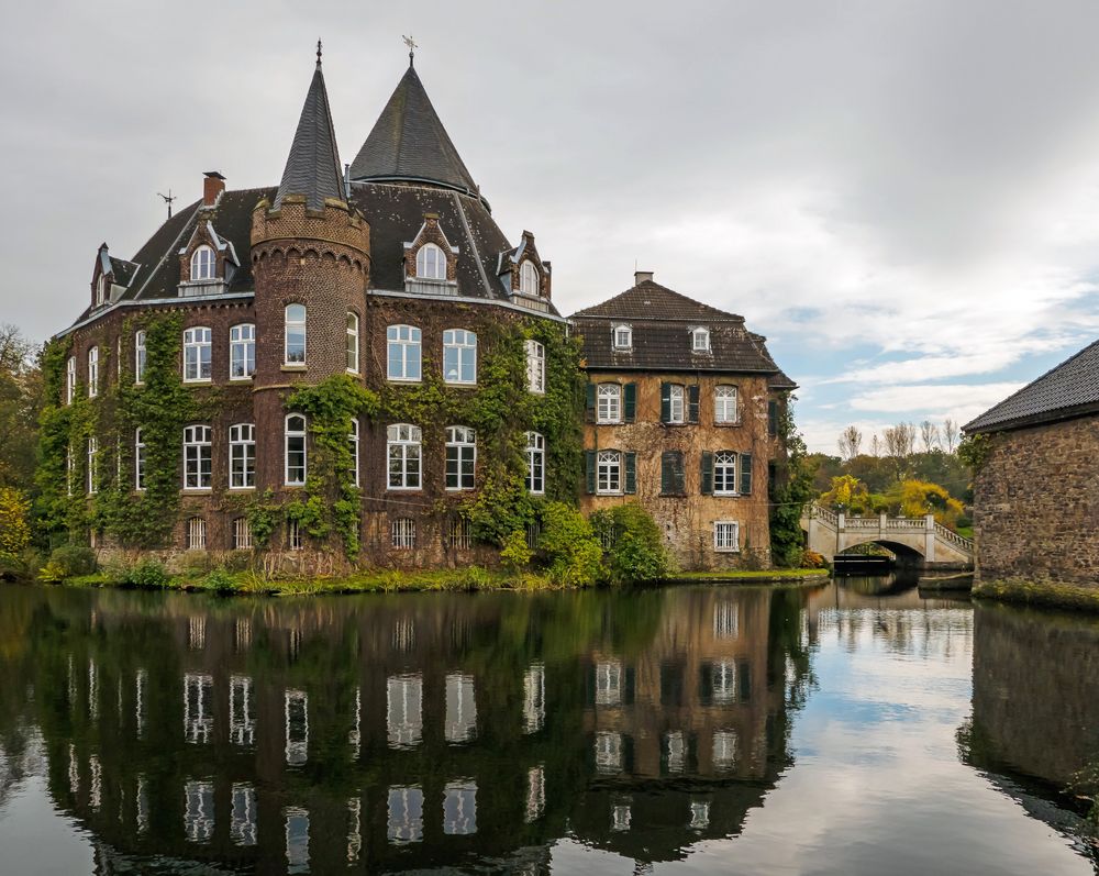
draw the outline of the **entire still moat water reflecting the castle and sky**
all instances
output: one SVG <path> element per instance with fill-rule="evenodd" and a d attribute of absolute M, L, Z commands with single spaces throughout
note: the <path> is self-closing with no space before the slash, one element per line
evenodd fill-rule
<path fill-rule="evenodd" d="M 0 586 L 0 874 L 1088 874 L 1099 620 Z"/>

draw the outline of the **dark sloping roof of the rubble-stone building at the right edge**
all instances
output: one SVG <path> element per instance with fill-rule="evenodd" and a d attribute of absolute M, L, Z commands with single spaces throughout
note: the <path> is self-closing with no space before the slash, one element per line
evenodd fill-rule
<path fill-rule="evenodd" d="M 985 411 L 963 430 L 1001 432 L 1088 413 L 1099 413 L 1099 341 Z"/>

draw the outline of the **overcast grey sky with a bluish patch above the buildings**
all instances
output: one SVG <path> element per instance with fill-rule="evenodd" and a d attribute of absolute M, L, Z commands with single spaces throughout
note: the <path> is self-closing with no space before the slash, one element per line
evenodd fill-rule
<path fill-rule="evenodd" d="M 965 421 L 1099 336 L 1092 2 L 37 0 L 0 31 L 0 322 L 85 306 L 203 170 L 277 185 L 324 40 L 349 162 L 407 65 L 565 313 L 743 314 L 810 446 Z"/>

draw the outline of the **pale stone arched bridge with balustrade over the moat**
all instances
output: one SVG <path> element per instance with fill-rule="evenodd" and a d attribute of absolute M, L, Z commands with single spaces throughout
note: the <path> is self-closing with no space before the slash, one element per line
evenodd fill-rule
<path fill-rule="evenodd" d="M 823 556 L 835 556 L 861 544 L 879 544 L 900 557 L 919 557 L 921 565 L 973 565 L 973 541 L 922 518 L 847 517 L 819 504 L 810 504 L 801 515 L 808 547 Z"/>

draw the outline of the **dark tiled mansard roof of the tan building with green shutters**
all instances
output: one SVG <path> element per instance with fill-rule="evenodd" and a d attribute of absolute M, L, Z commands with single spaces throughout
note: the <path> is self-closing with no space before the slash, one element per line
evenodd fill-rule
<path fill-rule="evenodd" d="M 570 318 L 581 335 L 586 367 L 608 370 L 739 372 L 769 375 L 776 389 L 793 389 L 767 352 L 765 339 L 744 328 L 744 318 L 643 280 Z M 633 330 L 633 347 L 615 350 L 615 325 Z M 691 350 L 690 330 L 710 330 L 710 351 Z"/>

